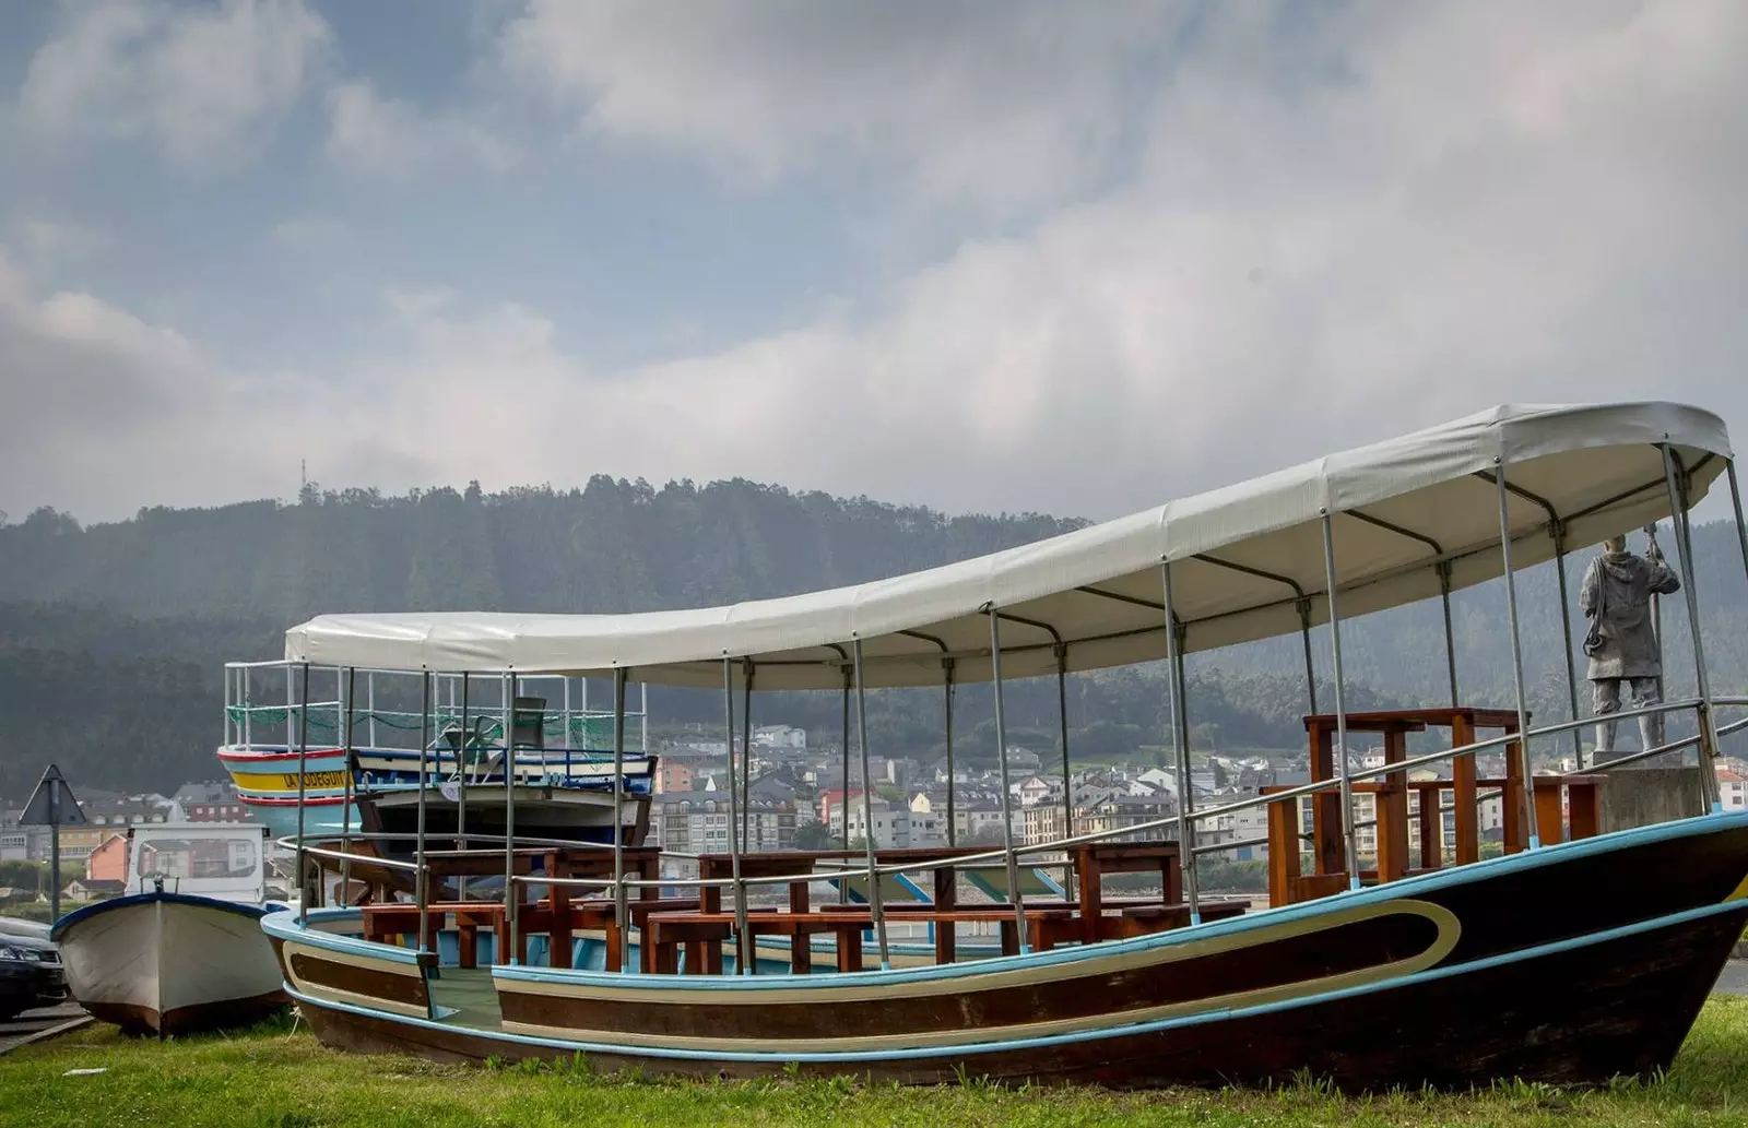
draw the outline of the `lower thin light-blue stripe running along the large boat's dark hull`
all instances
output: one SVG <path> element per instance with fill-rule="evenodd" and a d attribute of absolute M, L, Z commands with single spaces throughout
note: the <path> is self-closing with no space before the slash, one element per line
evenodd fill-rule
<path fill-rule="evenodd" d="M 1549 847 L 1554 849 L 1554 847 Z M 1561 952 L 1570 952 L 1573 948 L 1584 948 L 1589 945 L 1606 943 L 1612 939 L 1622 939 L 1626 936 L 1638 936 L 1641 932 L 1654 932 L 1662 927 L 1687 924 L 1690 920 L 1704 920 L 1706 917 L 1715 917 L 1727 911 L 1748 910 L 1748 901 L 1720 901 L 1718 904 L 1703 904 L 1699 908 L 1690 908 L 1680 913 L 1669 913 L 1666 917 L 1655 917 L 1652 920 L 1641 920 L 1638 924 L 1627 924 L 1617 929 L 1606 929 L 1603 932 L 1592 932 L 1589 936 L 1577 936 L 1570 939 L 1561 939 L 1535 948 L 1524 948 L 1521 952 L 1509 952 L 1503 955 L 1491 955 L 1481 960 L 1470 960 L 1467 964 L 1458 964 L 1454 967 L 1435 967 L 1430 971 L 1418 971 L 1414 974 L 1405 974 L 1383 983 L 1365 983 L 1360 987 L 1348 987 L 1341 990 L 1330 990 L 1318 995 L 1306 995 L 1302 999 L 1288 999 L 1281 1002 L 1264 1002 L 1250 1008 L 1213 1008 L 1196 1015 L 1180 1015 L 1176 1018 L 1155 1018 L 1152 1021 L 1124 1023 L 1117 1027 L 1101 1027 L 1098 1030 L 1075 1030 L 1072 1034 L 1052 1034 L 1044 1037 L 1026 1037 L 1012 1039 L 1005 1042 L 970 1042 L 960 1046 L 925 1046 L 914 1049 L 888 1049 L 879 1053 L 871 1051 L 846 1051 L 846 1053 L 759 1053 L 746 1049 L 725 1049 L 725 1051 L 706 1051 L 706 1049 L 662 1049 L 647 1046 L 610 1046 L 603 1042 L 579 1042 L 570 1039 L 556 1037 L 537 1037 L 526 1034 L 505 1034 L 498 1030 L 479 1030 L 474 1027 L 454 1027 L 435 1021 L 427 1021 L 420 1018 L 407 1018 L 404 1015 L 388 1015 L 383 1011 L 372 1011 L 369 1008 L 351 1006 L 344 1002 L 330 1002 L 327 999 L 315 999 L 299 994 L 295 988 L 287 985 L 287 990 L 294 999 L 301 1002 L 309 1002 L 313 1006 L 322 1006 L 334 1011 L 346 1011 L 351 1015 L 364 1015 L 367 1018 L 383 1018 L 397 1023 L 407 1023 L 416 1027 L 427 1027 L 434 1030 L 447 1030 L 451 1034 L 461 1032 L 472 1037 L 484 1037 L 491 1041 L 510 1042 L 517 1046 L 542 1046 L 551 1049 L 580 1051 L 580 1053 L 614 1053 L 622 1056 L 645 1056 L 645 1058 L 671 1058 L 683 1062 L 818 1062 L 818 1063 L 851 1063 L 851 1062 L 900 1062 L 900 1060 L 928 1060 L 928 1058 L 970 1058 L 984 1053 L 1005 1053 L 1009 1049 L 1038 1049 L 1049 1046 L 1063 1046 L 1072 1042 L 1092 1042 L 1108 1037 L 1126 1037 L 1134 1034 L 1154 1034 L 1157 1030 L 1175 1030 L 1182 1027 L 1201 1027 L 1215 1021 L 1225 1021 L 1231 1018 L 1253 1018 L 1260 1015 L 1278 1015 L 1283 1011 L 1295 1011 L 1308 1006 L 1318 1006 L 1323 1002 L 1334 1002 L 1337 999 L 1351 999 L 1355 995 L 1369 995 L 1384 990 L 1395 990 L 1398 987 L 1411 987 L 1418 983 L 1433 983 L 1437 980 L 1447 980 L 1461 974 L 1474 974 L 1477 971 L 1486 971 L 1491 967 L 1502 967 L 1505 964 L 1517 964 L 1524 960 L 1540 959 L 1545 955 L 1557 955 Z M 495 969 L 496 971 L 496 969 Z M 897 974 L 897 973 L 893 973 Z"/>

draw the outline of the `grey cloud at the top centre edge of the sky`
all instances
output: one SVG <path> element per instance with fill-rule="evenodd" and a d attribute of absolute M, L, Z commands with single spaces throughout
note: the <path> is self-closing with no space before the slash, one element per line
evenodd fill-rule
<path fill-rule="evenodd" d="M 848 152 L 928 199 L 1014 210 L 1103 175 L 1124 80 L 1183 10 L 533 0 L 500 56 L 610 138 L 760 180 Z"/>

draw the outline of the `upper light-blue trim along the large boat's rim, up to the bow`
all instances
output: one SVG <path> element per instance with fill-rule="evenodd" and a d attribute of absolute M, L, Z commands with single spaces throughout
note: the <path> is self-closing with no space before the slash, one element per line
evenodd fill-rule
<path fill-rule="evenodd" d="M 1613 831 L 1608 835 L 1598 835 L 1594 838 L 1561 842 L 1556 845 L 1542 847 L 1540 850 L 1524 850 L 1519 854 L 1489 857 L 1486 861 L 1470 863 L 1467 866 L 1453 866 L 1449 870 L 1421 873 L 1416 877 L 1402 878 L 1400 882 L 1390 882 L 1388 885 L 1369 885 L 1358 891 L 1348 891 L 1332 894 L 1328 898 L 1320 898 L 1316 901 L 1287 904 L 1281 908 L 1269 908 L 1259 913 L 1245 913 L 1243 917 L 1229 917 L 1227 920 L 1215 920 L 1211 924 L 1203 924 L 1194 929 L 1173 929 L 1169 932 L 1154 932 L 1150 936 L 1136 936 L 1133 939 L 1112 939 L 1099 945 L 1052 948 L 1051 952 L 1035 952 L 1030 955 L 998 955 L 968 964 L 944 964 L 937 967 L 900 967 L 897 971 L 853 971 L 832 976 L 760 974 L 755 978 L 652 976 L 642 973 L 628 978 L 622 974 L 605 974 L 596 971 L 554 971 L 551 967 L 507 967 L 507 966 L 496 966 L 493 967 L 493 971 L 496 974 L 502 974 L 503 978 L 526 980 L 537 983 L 538 981 L 579 983 L 589 987 L 661 987 L 664 990 L 764 990 L 769 987 L 792 988 L 806 985 L 823 994 L 832 990 L 834 987 L 867 987 L 872 983 L 909 983 L 909 981 L 928 981 L 928 980 L 965 980 L 967 990 L 974 990 L 975 976 L 982 974 L 1017 971 L 1023 967 L 1049 967 L 1056 964 L 1072 964 L 1077 960 L 1099 959 L 1113 953 L 1171 948 L 1175 945 L 1196 943 L 1210 936 L 1231 936 L 1246 932 L 1250 929 L 1266 929 L 1288 920 L 1321 917 L 1355 904 L 1370 904 L 1376 901 L 1395 901 L 1402 898 L 1414 898 L 1433 889 L 1484 882 L 1496 877 L 1503 877 L 1507 873 L 1550 866 L 1577 857 L 1591 857 L 1592 854 L 1612 854 L 1636 845 L 1648 845 L 1654 842 L 1666 842 L 1673 838 L 1713 835 L 1736 828 L 1748 828 L 1748 810 L 1725 815 L 1694 815 L 1690 819 L 1680 819 L 1676 822 L 1659 822 L 1657 826 L 1641 826 L 1624 831 Z"/>

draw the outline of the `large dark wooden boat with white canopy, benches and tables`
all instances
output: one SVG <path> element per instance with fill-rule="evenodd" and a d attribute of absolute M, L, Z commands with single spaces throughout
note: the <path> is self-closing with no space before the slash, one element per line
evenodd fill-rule
<path fill-rule="evenodd" d="M 633 677 L 713 683 L 731 735 L 736 688 L 752 684 L 843 691 L 848 718 L 871 686 L 989 679 L 998 758 L 1005 677 L 1166 658 L 1178 688 L 1185 653 L 1288 632 L 1302 634 L 1309 667 L 1313 627 L 1327 625 L 1335 711 L 1318 712 L 1308 686 L 1311 784 L 1030 847 L 1073 870 L 1049 896 L 1026 894 L 1009 838 L 982 856 L 869 847 L 864 875 L 902 871 L 926 899 L 888 904 L 871 882 L 865 904 L 815 906 L 809 885 L 843 877 L 844 854 L 743 854 L 731 817 L 729 854 L 692 857 L 690 882 L 652 878 L 649 849 L 591 856 L 547 843 L 531 847 L 547 850 L 545 884 L 517 870 L 498 903 L 420 892 L 274 913 L 262 927 L 323 1042 L 439 1060 L 580 1053 L 647 1074 L 799 1067 L 923 1084 L 1264 1084 L 1308 1070 L 1363 1090 L 1648 1076 L 1669 1065 L 1748 924 L 1748 814 L 1722 810 L 1713 775 L 1718 735 L 1748 726 L 1720 723 L 1718 711 L 1748 698 L 1710 691 L 1696 641 L 1697 691 L 1657 709 L 1694 716 L 1697 735 L 1605 763 L 1584 765 L 1580 751 L 1578 772 L 1536 774 L 1530 740 L 1564 746 L 1587 721 L 1531 728 L 1510 578 L 1550 559 L 1564 576 L 1570 545 L 1673 517 L 1697 618 L 1685 515 L 1725 471 L 1734 494 L 1729 457 L 1724 424 L 1697 409 L 1505 407 L 837 592 L 662 615 L 316 618 L 287 632 L 288 664 L 589 672 L 621 690 Z M 1512 705 L 1346 711 L 1346 616 L 1449 599 L 1502 574 Z M 1453 746 L 1409 758 L 1404 733 L 1428 714 Z M 1178 794 L 1189 796 L 1183 718 L 1173 697 Z M 1479 739 L 1488 726 L 1503 735 Z M 1353 732 L 1383 735 L 1383 767 L 1351 763 Z M 1699 754 L 1690 779 L 1703 814 L 1603 817 L 1620 768 L 1685 747 Z M 1503 777 L 1482 779 L 1477 754 L 1495 751 Z M 1451 777 L 1409 781 L 1435 761 L 1449 761 Z M 731 753 L 729 794 L 734 765 Z M 1474 801 L 1489 788 L 1505 852 L 1482 859 Z M 1355 793 L 1374 796 L 1372 857 L 1356 849 Z M 1243 807 L 1269 814 L 1271 906 L 1259 911 L 1203 898 L 1196 857 L 1224 847 L 1190 849 L 1196 824 Z M 306 850 L 323 864 L 341 854 Z M 425 843 L 413 864 L 434 875 L 523 864 L 516 840 L 496 861 L 472 854 Z M 972 870 L 993 899 L 960 898 Z M 1161 889 L 1152 903 L 1108 901 L 1101 880 L 1113 871 L 1159 873 Z M 776 903 L 750 903 L 750 887 Z M 1000 953 L 963 959 L 958 929 L 972 920 L 1000 924 Z M 900 922 L 926 927 L 928 943 L 893 945 Z"/>

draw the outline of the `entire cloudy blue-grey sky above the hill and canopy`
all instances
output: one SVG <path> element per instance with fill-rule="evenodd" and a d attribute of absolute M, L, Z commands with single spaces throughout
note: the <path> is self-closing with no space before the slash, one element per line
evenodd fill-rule
<path fill-rule="evenodd" d="M 0 5 L 0 510 L 1748 435 L 1748 3 Z M 1741 438 L 1739 438 L 1741 440 Z"/>

